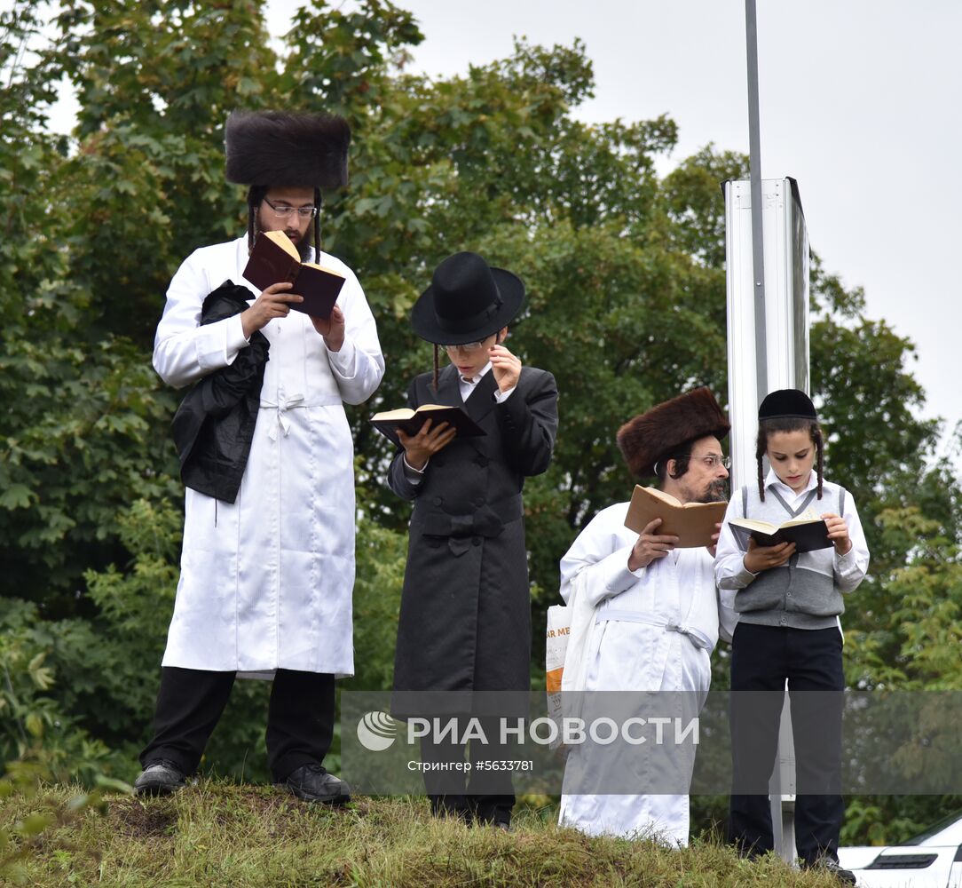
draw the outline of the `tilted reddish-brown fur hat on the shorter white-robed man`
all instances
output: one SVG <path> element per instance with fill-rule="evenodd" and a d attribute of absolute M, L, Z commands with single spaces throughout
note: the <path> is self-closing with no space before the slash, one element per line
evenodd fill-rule
<path fill-rule="evenodd" d="M 645 478 L 655 473 L 659 460 L 681 456 L 685 444 L 709 435 L 722 439 L 730 428 L 715 395 L 702 387 L 629 419 L 618 430 L 617 440 L 628 469 Z"/>

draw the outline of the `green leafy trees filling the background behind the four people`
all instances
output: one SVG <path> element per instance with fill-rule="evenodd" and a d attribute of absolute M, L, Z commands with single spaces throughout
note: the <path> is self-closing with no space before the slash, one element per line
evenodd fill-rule
<path fill-rule="evenodd" d="M 61 725 L 64 763 L 97 743 L 94 758 L 130 776 L 149 730 L 181 508 L 166 432 L 178 395 L 154 376 L 150 346 L 178 264 L 242 231 L 242 191 L 222 171 L 231 109 L 336 111 L 354 133 L 322 237 L 357 269 L 388 360 L 379 393 L 350 412 L 354 686 L 390 684 L 410 515 L 383 483 L 391 448 L 367 416 L 431 368 L 407 317 L 444 256 L 473 249 L 519 271 L 528 299 L 511 346 L 562 393 L 554 462 L 525 496 L 539 617 L 574 535 L 630 490 L 620 424 L 697 384 L 724 399 L 719 183 L 743 177 L 746 159 L 709 145 L 659 178 L 671 119 L 572 114 L 594 89 L 582 44 L 521 40 L 507 59 L 431 80 L 405 71 L 421 36 L 387 0 L 305 5 L 280 45 L 263 0 L 18 0 L 0 30 L 0 619 L 13 627 L 4 657 L 35 664 L 16 699 Z M 46 119 L 64 85 L 79 101 L 69 139 Z M 846 617 L 849 679 L 955 687 L 959 490 L 926 462 L 937 428 L 916 419 L 912 345 L 817 260 L 812 293 L 828 473 L 855 495 L 873 549 Z M 717 660 L 723 686 L 724 650 Z M 52 684 L 40 688 L 37 669 Z M 262 685 L 236 691 L 208 764 L 261 774 L 250 753 L 264 705 Z M 20 749 L 12 712 L 0 709 L 5 756 Z"/>

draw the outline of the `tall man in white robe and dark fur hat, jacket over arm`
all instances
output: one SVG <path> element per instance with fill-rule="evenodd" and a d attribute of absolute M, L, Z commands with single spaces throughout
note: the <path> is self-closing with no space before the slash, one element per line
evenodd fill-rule
<path fill-rule="evenodd" d="M 365 401 L 384 374 L 357 278 L 319 252 L 321 189 L 345 184 L 349 141 L 337 116 L 232 114 L 227 178 L 249 187 L 247 233 L 195 250 L 167 291 L 154 343 L 166 383 L 196 383 L 190 398 L 214 379 L 236 387 L 238 368 L 251 369 L 242 401 L 226 413 L 215 403 L 194 430 L 190 454 L 199 448 L 204 458 L 190 480 L 192 456 L 177 442 L 189 484 L 184 548 L 154 735 L 140 754 L 141 794 L 185 785 L 241 676 L 273 682 L 266 746 L 274 781 L 309 801 L 349 798 L 321 765 L 334 730 L 334 679 L 353 672 L 354 453 L 343 404 Z M 329 318 L 291 312 L 302 299 L 289 283 L 258 292 L 244 280 L 266 231 L 284 231 L 302 257 L 344 276 Z M 225 300 L 236 310 L 211 317 L 212 302 Z M 241 408 L 247 414 L 232 425 Z M 177 438 L 176 419 L 174 428 Z"/>

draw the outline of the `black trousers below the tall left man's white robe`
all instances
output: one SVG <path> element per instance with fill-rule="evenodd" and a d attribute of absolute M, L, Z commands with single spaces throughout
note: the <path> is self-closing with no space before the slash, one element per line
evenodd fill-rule
<path fill-rule="evenodd" d="M 146 767 L 169 759 L 185 774 L 200 763 L 227 705 L 236 672 L 165 667 L 154 713 L 154 737 L 140 753 Z M 267 764 L 274 780 L 319 765 L 334 736 L 334 675 L 279 669 L 267 708 Z"/>

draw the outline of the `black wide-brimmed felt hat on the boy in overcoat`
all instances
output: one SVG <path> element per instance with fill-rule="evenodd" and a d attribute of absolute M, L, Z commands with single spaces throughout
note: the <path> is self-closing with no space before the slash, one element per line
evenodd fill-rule
<path fill-rule="evenodd" d="M 500 330 L 523 301 L 518 275 L 489 266 L 477 253 L 455 253 L 435 268 L 431 286 L 418 296 L 411 326 L 429 343 L 473 343 Z"/>

